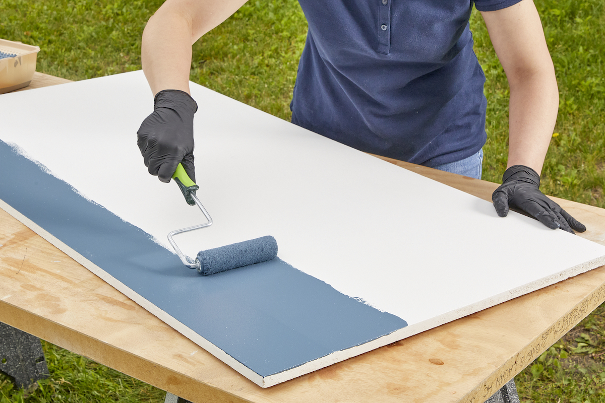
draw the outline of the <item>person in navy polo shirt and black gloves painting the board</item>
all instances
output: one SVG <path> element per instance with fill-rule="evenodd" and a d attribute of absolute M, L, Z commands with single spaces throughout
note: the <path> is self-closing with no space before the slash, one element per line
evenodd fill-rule
<path fill-rule="evenodd" d="M 167 0 L 143 31 L 142 65 L 155 106 L 137 143 L 160 181 L 169 182 L 178 163 L 195 181 L 191 46 L 244 2 Z M 486 98 L 469 30 L 474 3 L 510 87 L 508 166 L 492 195 L 495 210 L 586 230 L 539 190 L 558 87 L 532 0 L 299 3 L 309 31 L 293 123 L 365 152 L 480 178 Z"/>

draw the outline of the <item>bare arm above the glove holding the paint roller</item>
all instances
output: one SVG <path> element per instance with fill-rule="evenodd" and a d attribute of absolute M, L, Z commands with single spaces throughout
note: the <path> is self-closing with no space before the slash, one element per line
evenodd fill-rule
<path fill-rule="evenodd" d="M 153 94 L 189 93 L 191 45 L 229 18 L 246 0 L 167 0 L 143 31 L 141 59 Z"/>

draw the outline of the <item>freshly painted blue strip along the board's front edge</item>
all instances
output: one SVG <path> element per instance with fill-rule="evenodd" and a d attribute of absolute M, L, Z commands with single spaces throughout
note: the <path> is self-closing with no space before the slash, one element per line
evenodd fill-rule
<path fill-rule="evenodd" d="M 261 376 L 407 326 L 280 259 L 200 276 L 2 141 L 0 199 Z"/>

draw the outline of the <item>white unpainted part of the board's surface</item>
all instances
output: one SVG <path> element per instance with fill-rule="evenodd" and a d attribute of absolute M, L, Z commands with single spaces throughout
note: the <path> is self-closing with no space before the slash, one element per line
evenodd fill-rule
<path fill-rule="evenodd" d="M 281 259 L 414 334 L 605 264 L 597 243 L 499 218 L 488 202 L 199 85 L 192 95 L 197 194 L 215 224 L 175 238 L 189 256 L 273 235 Z M 142 72 L 5 94 L 0 110 L 11 117 L 0 139 L 158 242 L 203 221 L 143 166 Z"/>

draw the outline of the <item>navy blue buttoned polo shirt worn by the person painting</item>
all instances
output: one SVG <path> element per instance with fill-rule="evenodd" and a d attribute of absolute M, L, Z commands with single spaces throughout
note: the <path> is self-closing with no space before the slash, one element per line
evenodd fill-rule
<path fill-rule="evenodd" d="M 520 0 L 476 0 L 478 10 Z M 356 149 L 437 166 L 485 144 L 471 0 L 299 0 L 309 23 L 292 122 Z"/>

